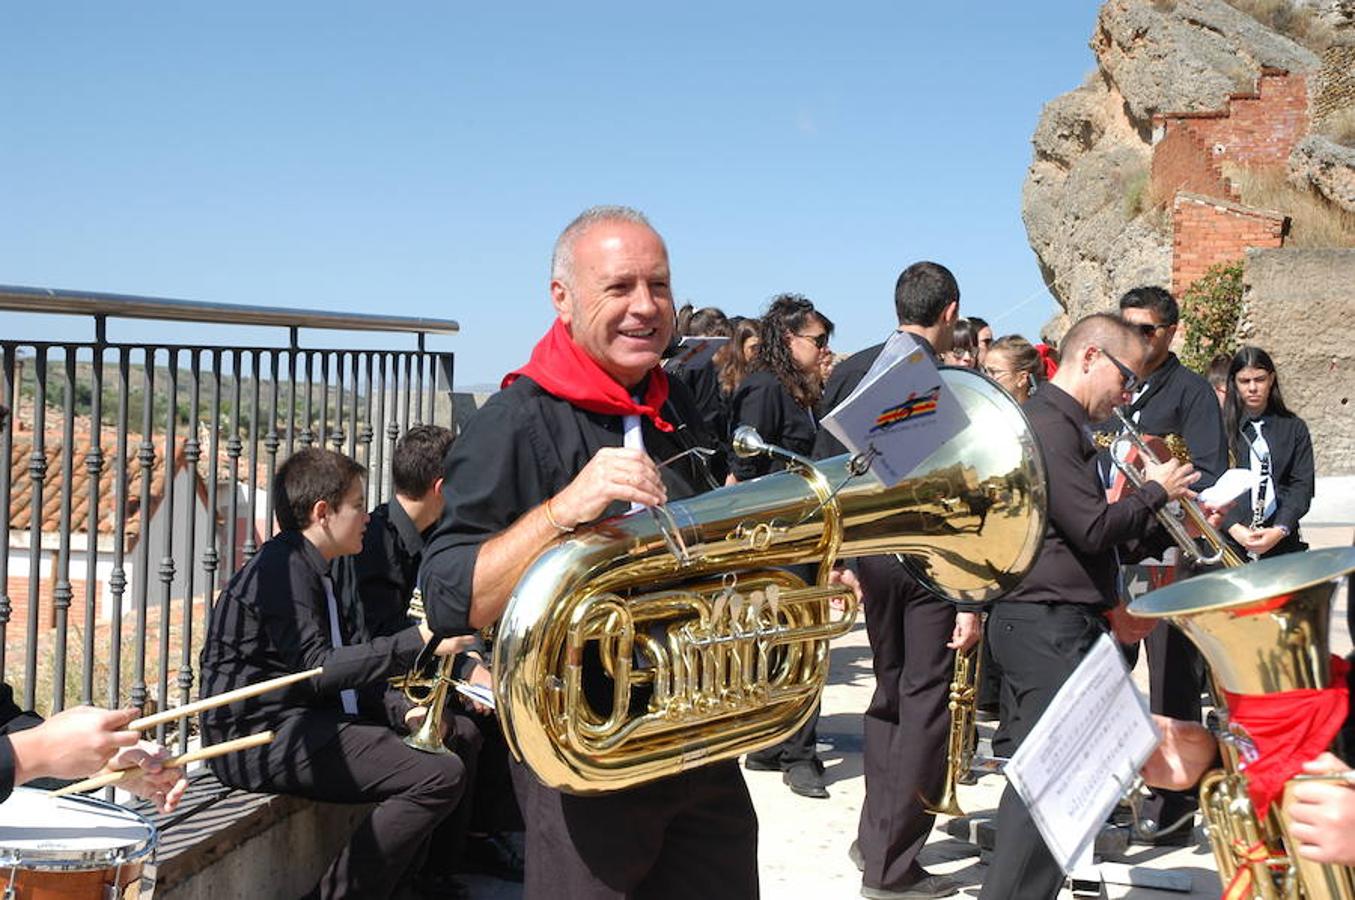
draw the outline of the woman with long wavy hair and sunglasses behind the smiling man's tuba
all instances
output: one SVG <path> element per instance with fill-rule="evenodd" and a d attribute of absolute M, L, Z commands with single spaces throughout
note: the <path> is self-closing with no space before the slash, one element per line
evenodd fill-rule
<path fill-rule="evenodd" d="M 814 450 L 818 420 L 814 404 L 824 392 L 820 371 L 831 355 L 828 339 L 833 324 L 806 297 L 780 294 L 762 317 L 762 339 L 752 371 L 729 403 L 733 427 L 752 426 L 764 441 L 791 453 Z M 730 454 L 732 481 L 748 481 L 785 464 L 770 457 Z M 812 580 L 812 575 L 806 579 Z M 818 759 L 818 708 L 799 729 L 780 741 L 748 754 L 744 764 L 755 771 L 780 771 L 782 779 L 802 797 L 828 797 L 824 764 Z"/>

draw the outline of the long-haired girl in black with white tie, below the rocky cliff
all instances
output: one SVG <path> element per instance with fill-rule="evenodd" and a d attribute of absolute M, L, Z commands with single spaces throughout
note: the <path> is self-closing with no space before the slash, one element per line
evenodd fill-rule
<path fill-rule="evenodd" d="M 1233 355 L 1224 419 L 1234 465 L 1257 474 L 1228 516 L 1228 535 L 1253 558 L 1306 550 L 1298 520 L 1313 503 L 1313 438 L 1285 405 L 1279 373 L 1260 347 Z"/>

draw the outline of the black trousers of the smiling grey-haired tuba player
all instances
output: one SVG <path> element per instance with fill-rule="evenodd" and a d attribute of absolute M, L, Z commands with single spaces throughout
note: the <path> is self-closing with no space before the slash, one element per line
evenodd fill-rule
<path fill-rule="evenodd" d="M 756 900 L 757 816 L 738 763 L 565 794 L 514 763 L 526 900 Z"/>

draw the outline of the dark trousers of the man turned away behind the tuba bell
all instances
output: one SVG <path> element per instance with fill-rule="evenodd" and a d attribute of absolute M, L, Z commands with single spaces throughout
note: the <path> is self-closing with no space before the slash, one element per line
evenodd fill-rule
<path fill-rule="evenodd" d="M 936 817 L 923 808 L 923 797 L 939 797 L 946 775 L 946 703 L 955 668 L 946 642 L 955 607 L 925 591 L 893 557 L 862 558 L 859 572 L 875 670 L 856 828 L 866 862 L 862 884 L 902 891 L 925 874 L 917 853 Z"/>

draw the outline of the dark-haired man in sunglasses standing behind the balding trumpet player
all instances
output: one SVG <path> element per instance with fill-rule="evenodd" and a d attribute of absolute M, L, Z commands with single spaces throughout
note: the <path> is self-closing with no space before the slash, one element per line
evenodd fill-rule
<path fill-rule="evenodd" d="M 1195 491 L 1203 491 L 1228 469 L 1228 442 L 1218 400 L 1209 381 L 1182 365 L 1171 351 L 1180 309 L 1161 287 L 1135 287 L 1119 298 L 1119 317 L 1137 328 L 1148 342 L 1144 381 L 1126 408 L 1126 416 L 1150 435 L 1179 434 L 1190 447 L 1191 465 L 1199 473 Z M 1106 423 L 1118 431 L 1118 419 Z M 1110 465 L 1103 462 L 1103 465 Z M 1191 575 L 1177 569 L 1177 577 Z M 1144 638 L 1148 651 L 1149 705 L 1154 713 L 1199 721 L 1201 691 L 1205 690 L 1205 661 L 1199 651 L 1176 626 L 1161 622 Z M 1137 651 L 1135 651 L 1137 656 Z M 1144 801 L 1141 831 L 1133 838 L 1145 843 L 1186 844 L 1190 827 L 1154 834 L 1196 806 L 1195 793 L 1156 793 Z"/>

